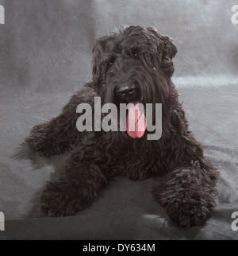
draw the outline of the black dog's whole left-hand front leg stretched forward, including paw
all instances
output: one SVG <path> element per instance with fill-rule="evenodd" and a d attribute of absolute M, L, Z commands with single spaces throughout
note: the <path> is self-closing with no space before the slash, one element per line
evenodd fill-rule
<path fill-rule="evenodd" d="M 63 175 L 48 183 L 41 196 L 40 211 L 51 217 L 74 215 L 94 202 L 107 184 L 96 147 L 79 147 L 67 158 Z M 100 158 L 100 157 L 99 157 Z"/>

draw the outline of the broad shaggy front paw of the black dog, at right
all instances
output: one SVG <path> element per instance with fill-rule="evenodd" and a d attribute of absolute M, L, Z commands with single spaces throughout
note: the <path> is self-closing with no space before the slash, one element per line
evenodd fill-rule
<path fill-rule="evenodd" d="M 204 159 L 202 165 L 195 161 L 175 169 L 156 184 L 156 199 L 180 227 L 203 225 L 215 206 L 217 172 L 208 163 Z"/>

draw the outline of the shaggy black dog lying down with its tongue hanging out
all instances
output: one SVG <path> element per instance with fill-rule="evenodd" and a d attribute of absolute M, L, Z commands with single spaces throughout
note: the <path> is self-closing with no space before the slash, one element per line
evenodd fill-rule
<path fill-rule="evenodd" d="M 144 180 L 163 174 L 154 194 L 171 219 L 182 227 L 205 223 L 215 206 L 217 168 L 188 130 L 178 102 L 171 81 L 176 53 L 173 41 L 154 28 L 129 26 L 96 41 L 93 80 L 72 96 L 58 117 L 33 127 L 26 138 L 44 157 L 72 151 L 62 176 L 44 189 L 40 210 L 45 215 L 83 210 L 115 176 Z M 116 106 L 162 103 L 162 137 L 148 140 L 148 130 L 142 138 L 126 131 L 79 132 L 76 108 L 79 103 L 94 107 L 95 96 Z"/>

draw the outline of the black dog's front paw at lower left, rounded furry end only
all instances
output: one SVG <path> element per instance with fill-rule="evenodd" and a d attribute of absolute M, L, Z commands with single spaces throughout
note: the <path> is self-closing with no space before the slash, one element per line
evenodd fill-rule
<path fill-rule="evenodd" d="M 74 215 L 88 205 L 79 192 L 65 180 L 48 183 L 40 199 L 40 212 L 49 217 Z"/>

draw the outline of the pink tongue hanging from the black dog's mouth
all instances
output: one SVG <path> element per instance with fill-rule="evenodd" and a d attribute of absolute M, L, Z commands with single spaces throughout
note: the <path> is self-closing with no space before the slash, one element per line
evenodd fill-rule
<path fill-rule="evenodd" d="M 146 129 L 144 112 L 140 111 L 140 103 L 130 103 L 126 117 L 126 130 L 131 138 L 142 138 Z"/>

